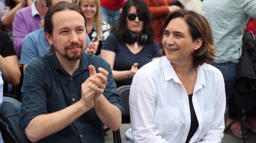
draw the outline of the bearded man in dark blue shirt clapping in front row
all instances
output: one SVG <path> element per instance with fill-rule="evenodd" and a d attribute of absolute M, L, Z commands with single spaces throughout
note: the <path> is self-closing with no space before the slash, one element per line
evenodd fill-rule
<path fill-rule="evenodd" d="M 20 125 L 32 142 L 105 142 L 103 124 L 121 126 L 121 99 L 111 67 L 85 53 L 86 21 L 75 4 L 45 15 L 51 54 L 30 63 L 22 88 Z"/>

